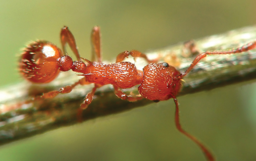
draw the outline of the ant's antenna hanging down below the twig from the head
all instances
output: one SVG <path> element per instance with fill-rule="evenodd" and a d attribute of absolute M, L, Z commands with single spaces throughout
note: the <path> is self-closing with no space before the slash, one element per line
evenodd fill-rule
<path fill-rule="evenodd" d="M 207 158 L 208 161 L 214 161 L 214 157 L 212 155 L 212 153 L 210 152 L 210 150 L 208 150 L 199 140 L 197 140 L 194 136 L 190 135 L 188 132 L 186 132 L 185 130 L 182 129 L 181 124 L 180 124 L 180 115 L 179 115 L 179 104 L 178 101 L 175 97 L 173 97 L 173 100 L 175 102 L 176 105 L 176 109 L 175 109 L 175 125 L 176 128 L 183 133 L 185 136 L 187 136 L 189 139 L 191 139 L 192 141 L 194 141 L 203 151 L 205 157 Z"/>

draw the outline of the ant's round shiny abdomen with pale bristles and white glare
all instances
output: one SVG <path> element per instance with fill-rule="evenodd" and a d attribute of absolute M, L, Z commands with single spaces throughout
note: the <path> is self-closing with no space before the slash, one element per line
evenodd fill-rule
<path fill-rule="evenodd" d="M 32 42 L 21 55 L 19 71 L 30 82 L 49 83 L 59 74 L 56 60 L 62 55 L 61 50 L 51 42 Z"/>

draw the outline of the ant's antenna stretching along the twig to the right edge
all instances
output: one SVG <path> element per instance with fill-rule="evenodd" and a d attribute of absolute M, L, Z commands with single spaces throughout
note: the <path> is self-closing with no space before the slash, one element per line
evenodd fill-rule
<path fill-rule="evenodd" d="M 187 73 L 189 73 L 196 65 L 197 63 L 204 57 L 206 57 L 207 55 L 216 55 L 216 54 L 235 54 L 235 53 L 242 53 L 245 51 L 249 51 L 256 48 L 256 41 L 252 42 L 252 43 L 248 43 L 240 48 L 237 49 L 233 49 L 233 50 L 228 50 L 228 51 L 212 51 L 212 52 L 203 52 L 201 54 L 199 54 L 194 60 L 193 62 L 190 64 L 190 66 L 188 67 L 188 69 L 182 73 L 180 76 L 178 76 L 178 78 L 182 78 L 185 75 L 187 75 Z"/>

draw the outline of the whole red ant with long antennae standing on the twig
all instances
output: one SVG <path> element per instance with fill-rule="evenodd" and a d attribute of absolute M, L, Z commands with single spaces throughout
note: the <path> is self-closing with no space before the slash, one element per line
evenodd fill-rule
<path fill-rule="evenodd" d="M 229 51 L 214 51 L 203 52 L 199 54 L 182 74 L 174 67 L 169 66 L 166 62 L 154 63 L 156 60 L 149 60 L 147 56 L 137 50 L 125 51 L 117 55 L 115 64 L 102 64 L 101 62 L 101 47 L 100 47 L 100 28 L 94 27 L 91 33 L 91 41 L 93 47 L 93 61 L 95 56 L 97 62 L 89 61 L 80 57 L 77 50 L 75 38 L 67 26 L 64 26 L 60 32 L 60 41 L 62 44 L 62 51 L 54 44 L 48 41 L 35 41 L 31 43 L 22 53 L 19 62 L 19 69 L 22 75 L 33 83 L 49 83 L 55 79 L 60 71 L 73 70 L 79 72 L 84 76 L 79 81 L 72 85 L 65 86 L 58 91 L 50 91 L 43 93 L 39 97 L 35 97 L 28 102 L 35 99 L 53 98 L 59 93 L 69 93 L 77 85 L 85 85 L 94 83 L 94 88 L 85 96 L 83 103 L 79 108 L 79 113 L 86 109 L 93 100 L 94 93 L 97 88 L 112 84 L 114 92 L 117 97 L 122 100 L 137 101 L 142 98 L 152 100 L 154 102 L 165 101 L 173 98 L 176 105 L 175 110 L 175 124 L 177 129 L 185 136 L 194 141 L 203 151 L 207 160 L 215 160 L 210 150 L 207 149 L 194 136 L 187 133 L 180 125 L 179 104 L 176 95 L 181 89 L 181 80 L 187 75 L 195 65 L 207 55 L 214 54 L 232 54 L 241 53 L 252 50 L 256 47 L 256 41 L 246 44 L 241 48 Z M 76 56 L 76 61 L 73 61 L 67 55 L 66 43 L 69 44 L 71 50 Z M 131 55 L 132 57 L 142 57 L 150 64 L 143 68 L 143 71 L 136 69 L 131 62 L 123 62 L 123 60 Z M 85 60 L 85 64 L 82 60 Z M 138 87 L 140 95 L 126 95 L 120 89 L 131 88 L 135 85 Z"/>

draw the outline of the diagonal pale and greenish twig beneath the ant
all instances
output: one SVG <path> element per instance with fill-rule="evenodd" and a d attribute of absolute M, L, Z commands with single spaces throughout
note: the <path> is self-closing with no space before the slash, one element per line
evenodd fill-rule
<path fill-rule="evenodd" d="M 245 43 L 256 40 L 256 26 L 229 31 L 195 41 L 199 51 L 228 50 L 237 48 Z M 165 49 L 146 52 L 151 57 L 162 57 L 174 54 L 184 71 L 193 57 L 182 57 L 183 43 Z M 177 59 L 177 60 L 178 60 Z M 125 61 L 134 62 L 132 58 Z M 108 62 L 107 62 L 108 63 Z M 136 67 L 142 69 L 146 62 L 136 60 Z M 63 72 L 53 83 L 47 85 L 32 85 L 27 82 L 18 83 L 0 90 L 0 144 L 8 143 L 20 138 L 33 136 L 47 130 L 67 126 L 77 122 L 77 109 L 92 86 L 79 86 L 71 93 L 60 94 L 54 99 L 38 100 L 31 104 L 22 104 L 33 95 L 59 89 L 72 84 L 81 76 L 73 72 Z M 256 78 L 256 50 L 242 54 L 215 55 L 204 58 L 185 78 L 183 89 L 179 95 L 210 90 L 227 84 L 244 82 Z M 125 89 L 127 92 L 137 92 L 137 88 Z M 141 107 L 153 103 L 143 99 L 128 102 L 118 99 L 111 85 L 100 88 L 93 102 L 83 111 L 83 120 L 114 114 L 125 110 Z"/>

